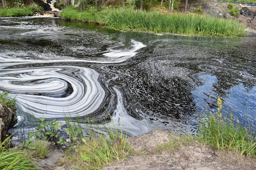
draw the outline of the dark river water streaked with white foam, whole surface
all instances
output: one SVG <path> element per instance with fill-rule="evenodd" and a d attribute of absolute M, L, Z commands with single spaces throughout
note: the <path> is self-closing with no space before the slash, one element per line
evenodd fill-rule
<path fill-rule="evenodd" d="M 0 91 L 16 97 L 25 133 L 31 115 L 81 123 L 111 117 L 129 135 L 193 133 L 202 115 L 216 114 L 218 97 L 222 115 L 232 111 L 235 122 L 255 129 L 255 35 L 205 38 L 59 18 L 4 20 L 18 25 L 0 27 Z"/>

